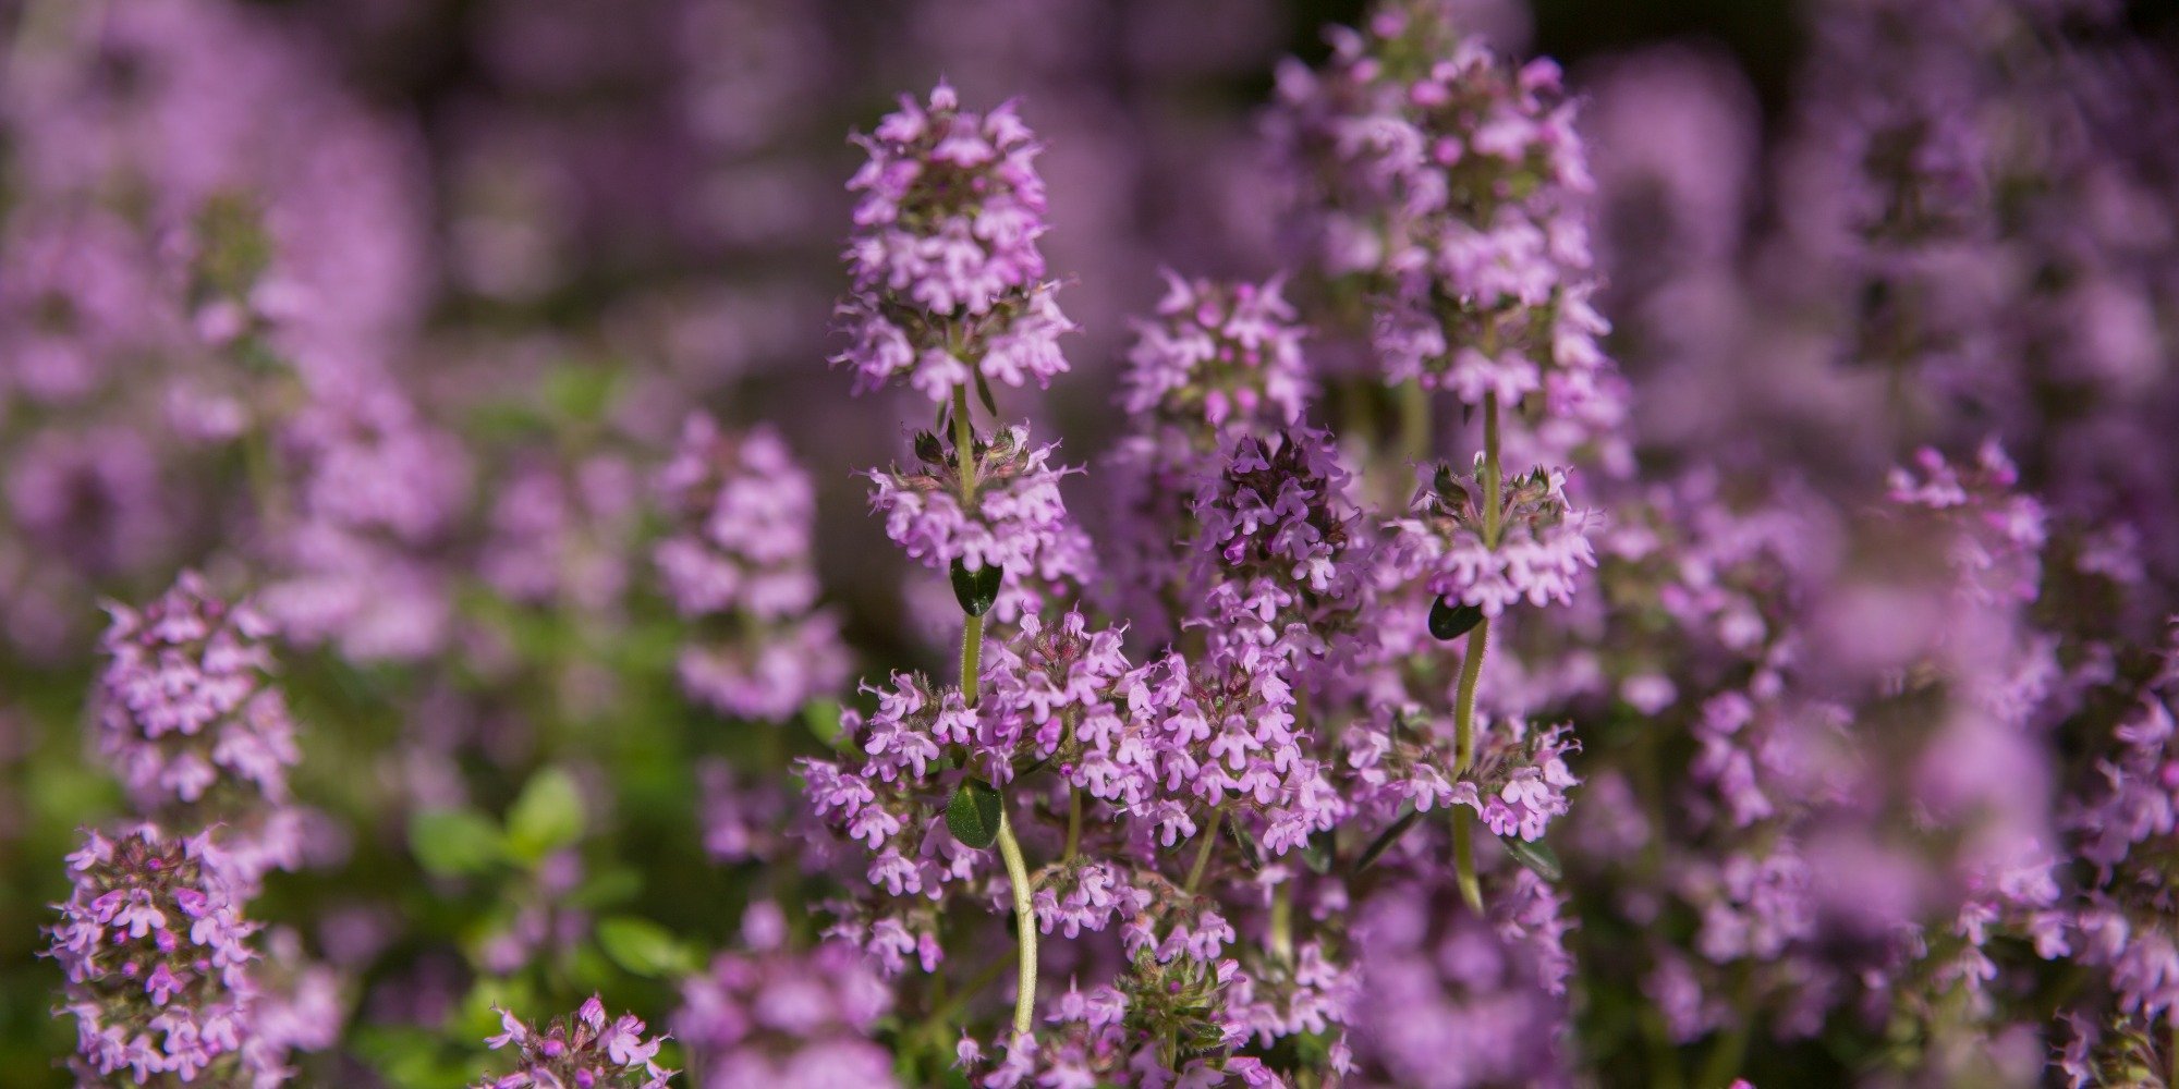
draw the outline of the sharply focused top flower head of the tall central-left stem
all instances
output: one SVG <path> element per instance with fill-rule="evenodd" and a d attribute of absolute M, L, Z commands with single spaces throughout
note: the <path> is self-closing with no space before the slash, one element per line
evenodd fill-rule
<path fill-rule="evenodd" d="M 970 381 L 1046 386 L 1068 368 L 1059 335 L 1074 329 L 1044 281 L 1042 146 L 1002 105 L 961 109 L 939 83 L 928 102 L 900 100 L 859 137 L 869 161 L 848 183 L 861 194 L 848 246 L 854 294 L 841 303 L 856 390 L 893 375 L 933 401 Z"/>

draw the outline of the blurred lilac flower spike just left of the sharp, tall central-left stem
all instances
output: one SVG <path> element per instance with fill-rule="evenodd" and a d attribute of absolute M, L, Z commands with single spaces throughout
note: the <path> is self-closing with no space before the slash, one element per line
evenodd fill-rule
<path fill-rule="evenodd" d="M 667 597 L 721 627 L 682 649 L 682 688 L 747 719 L 787 719 L 839 690 L 848 651 L 839 619 L 817 605 L 811 562 L 817 501 L 780 436 L 728 436 L 689 416 L 658 492 L 673 518 L 654 553 Z"/>

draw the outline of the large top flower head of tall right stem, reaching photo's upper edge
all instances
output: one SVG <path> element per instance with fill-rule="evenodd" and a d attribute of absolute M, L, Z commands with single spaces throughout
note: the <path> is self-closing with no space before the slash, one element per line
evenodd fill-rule
<path fill-rule="evenodd" d="M 1279 105 L 1305 248 L 1384 307 L 1386 381 L 1558 412 L 1597 396 L 1593 183 L 1558 65 L 1510 70 L 1442 0 L 1403 0 L 1334 30 L 1323 72 L 1281 68 Z"/>

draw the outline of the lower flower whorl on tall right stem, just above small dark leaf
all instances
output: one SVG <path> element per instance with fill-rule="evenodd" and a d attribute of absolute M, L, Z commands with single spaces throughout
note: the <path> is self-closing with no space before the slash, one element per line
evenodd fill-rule
<path fill-rule="evenodd" d="M 1432 595 L 1475 605 L 1484 616 L 1521 601 L 1571 601 L 1582 568 L 1597 562 L 1588 544 L 1597 514 L 1567 503 L 1562 470 L 1536 468 L 1499 488 L 1493 547 L 1484 540 L 1490 512 L 1477 475 L 1453 477 L 1440 468 L 1416 490 L 1414 516 L 1395 523 L 1405 564 Z"/>

